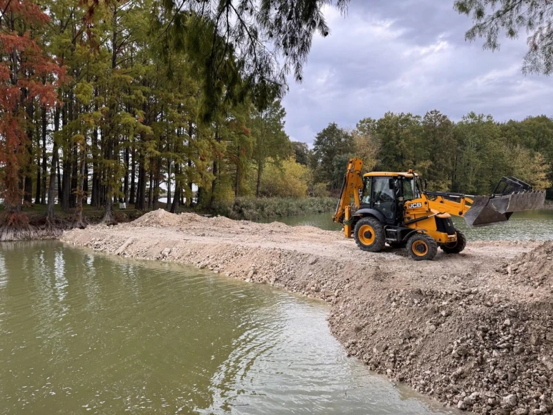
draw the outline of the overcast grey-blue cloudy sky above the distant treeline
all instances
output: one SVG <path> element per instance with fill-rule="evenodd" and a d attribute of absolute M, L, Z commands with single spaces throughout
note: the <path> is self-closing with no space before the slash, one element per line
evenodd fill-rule
<path fill-rule="evenodd" d="M 386 111 L 553 116 L 553 78 L 521 72 L 527 35 L 482 50 L 482 39 L 465 41 L 471 20 L 453 0 L 352 0 L 346 17 L 325 17 L 332 32 L 315 37 L 303 83 L 290 78 L 283 100 L 292 140 L 311 145 L 329 122 L 353 128 Z"/>

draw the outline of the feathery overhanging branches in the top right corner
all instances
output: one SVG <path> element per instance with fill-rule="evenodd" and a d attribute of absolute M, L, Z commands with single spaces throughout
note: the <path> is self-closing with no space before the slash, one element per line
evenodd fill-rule
<path fill-rule="evenodd" d="M 499 35 L 510 39 L 525 30 L 528 51 L 524 57 L 525 73 L 553 72 L 553 8 L 550 0 L 456 0 L 454 8 L 471 16 L 474 26 L 465 37 L 471 41 L 484 37 L 484 48 L 498 50 Z"/>

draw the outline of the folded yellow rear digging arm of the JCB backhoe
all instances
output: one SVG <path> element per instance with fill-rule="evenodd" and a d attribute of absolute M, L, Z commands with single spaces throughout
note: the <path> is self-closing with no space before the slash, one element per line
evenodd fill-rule
<path fill-rule="evenodd" d="M 344 183 L 341 185 L 338 205 L 332 220 L 344 224 L 344 233 L 346 237 L 351 235 L 351 197 L 353 196 L 353 205 L 359 209 L 361 201 L 359 200 L 359 190 L 363 188 L 363 179 L 361 170 L 363 161 L 359 158 L 350 158 L 348 168 L 344 174 Z"/>

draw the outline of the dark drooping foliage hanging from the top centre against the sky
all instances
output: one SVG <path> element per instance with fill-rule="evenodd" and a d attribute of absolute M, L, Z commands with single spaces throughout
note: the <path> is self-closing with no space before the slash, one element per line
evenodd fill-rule
<path fill-rule="evenodd" d="M 168 46 L 163 50 L 185 51 L 202 74 L 210 118 L 221 97 L 237 103 L 249 93 L 264 107 L 283 95 L 286 75 L 293 73 L 301 81 L 313 35 L 330 33 L 323 9 L 335 5 L 345 12 L 348 2 L 162 0 L 153 15 Z"/>

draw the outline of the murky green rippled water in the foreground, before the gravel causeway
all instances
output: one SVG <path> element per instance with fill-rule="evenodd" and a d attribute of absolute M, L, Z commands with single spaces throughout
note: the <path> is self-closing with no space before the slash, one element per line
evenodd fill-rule
<path fill-rule="evenodd" d="M 346 358 L 327 313 L 176 264 L 2 243 L 0 413 L 441 411 Z"/>

